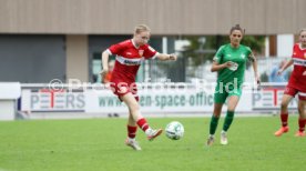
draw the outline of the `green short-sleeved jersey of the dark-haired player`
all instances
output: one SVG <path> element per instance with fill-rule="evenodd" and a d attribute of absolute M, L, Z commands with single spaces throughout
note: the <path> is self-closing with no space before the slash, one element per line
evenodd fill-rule
<path fill-rule="evenodd" d="M 234 83 L 234 80 L 237 79 L 237 86 L 239 88 L 244 82 L 246 62 L 251 54 L 251 49 L 242 44 L 238 48 L 233 48 L 231 43 L 222 46 L 217 50 L 214 61 L 218 64 L 232 61 L 233 67 L 222 69 L 217 72 L 217 83 L 223 82 L 223 86 L 225 86 L 230 82 Z"/>

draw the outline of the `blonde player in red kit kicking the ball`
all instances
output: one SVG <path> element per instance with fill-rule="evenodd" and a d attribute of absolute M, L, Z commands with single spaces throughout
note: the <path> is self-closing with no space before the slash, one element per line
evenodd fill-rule
<path fill-rule="evenodd" d="M 159 59 L 162 61 L 176 60 L 174 54 L 156 52 L 147 42 L 150 40 L 150 28 L 145 24 L 135 27 L 134 36 L 118 44 L 111 46 L 102 53 L 102 77 L 108 73 L 109 56 L 115 54 L 115 66 L 110 82 L 111 89 L 123 101 L 130 111 L 128 121 L 128 139 L 125 144 L 134 150 L 141 150 L 135 140 L 137 127 L 142 129 L 149 140 L 153 140 L 162 133 L 162 129 L 152 129 L 145 118 L 141 114 L 135 77 L 143 60 Z"/>

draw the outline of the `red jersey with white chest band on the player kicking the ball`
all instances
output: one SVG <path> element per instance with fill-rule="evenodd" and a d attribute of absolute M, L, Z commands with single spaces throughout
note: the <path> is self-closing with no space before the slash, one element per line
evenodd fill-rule
<path fill-rule="evenodd" d="M 111 82 L 135 82 L 140 64 L 145 59 L 153 59 L 157 52 L 149 44 L 136 47 L 133 40 L 125 40 L 108 49 L 116 54 Z"/>

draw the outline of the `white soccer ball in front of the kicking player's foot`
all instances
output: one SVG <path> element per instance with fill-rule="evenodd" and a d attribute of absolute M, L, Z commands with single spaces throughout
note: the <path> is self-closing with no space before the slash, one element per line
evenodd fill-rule
<path fill-rule="evenodd" d="M 165 128 L 166 137 L 172 140 L 180 140 L 184 135 L 184 127 L 177 121 L 170 122 Z"/>

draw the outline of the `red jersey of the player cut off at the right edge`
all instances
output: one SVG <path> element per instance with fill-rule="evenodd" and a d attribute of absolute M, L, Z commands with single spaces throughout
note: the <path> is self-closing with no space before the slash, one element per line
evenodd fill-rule
<path fill-rule="evenodd" d="M 294 70 L 290 76 L 288 87 L 293 87 L 302 92 L 306 92 L 306 49 L 302 49 L 299 43 L 294 44 L 293 48 Z"/>

